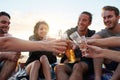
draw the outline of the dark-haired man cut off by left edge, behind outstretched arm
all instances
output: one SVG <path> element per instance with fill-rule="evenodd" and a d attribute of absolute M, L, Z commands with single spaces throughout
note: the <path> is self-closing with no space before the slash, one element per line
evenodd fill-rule
<path fill-rule="evenodd" d="M 6 12 L 0 12 L 0 37 L 9 36 L 9 24 L 10 15 Z M 15 70 L 19 57 L 20 53 L 17 52 L 0 52 L 0 78 L 2 80 L 7 80 Z"/>

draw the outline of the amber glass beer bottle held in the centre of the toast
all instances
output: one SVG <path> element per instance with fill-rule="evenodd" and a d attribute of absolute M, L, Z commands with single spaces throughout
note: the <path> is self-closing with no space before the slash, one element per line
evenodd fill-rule
<path fill-rule="evenodd" d="M 76 61 L 74 50 L 72 49 L 72 46 L 69 40 L 67 41 L 67 44 L 68 46 L 67 46 L 65 54 L 68 58 L 69 63 L 74 63 Z"/>

